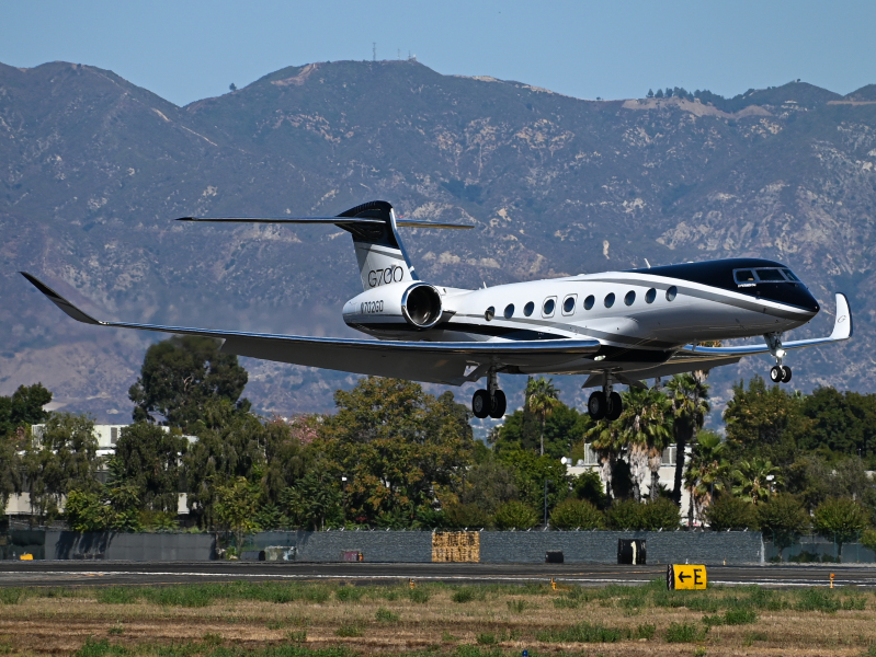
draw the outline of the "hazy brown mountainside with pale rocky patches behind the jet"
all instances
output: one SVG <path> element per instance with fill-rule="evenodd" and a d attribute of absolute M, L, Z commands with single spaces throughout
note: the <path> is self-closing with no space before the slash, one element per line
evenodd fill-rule
<path fill-rule="evenodd" d="M 374 198 L 476 227 L 403 234 L 421 276 L 454 286 L 645 258 L 781 260 L 827 311 L 800 335 L 829 331 L 834 290 L 850 293 L 857 328 L 845 346 L 795 354 L 794 385 L 876 390 L 864 356 L 876 312 L 876 105 L 806 83 L 712 103 L 583 101 L 416 62 L 341 61 L 177 107 L 93 67 L 0 65 L 0 394 L 42 380 L 66 408 L 126 420 L 155 338 L 67 321 L 19 269 L 99 316 L 352 335 L 339 314 L 357 291 L 345 234 L 170 219 L 337 214 Z M 352 380 L 246 366 L 247 394 L 265 413 L 330 408 L 331 390 Z M 767 367 L 717 370 L 716 395 Z M 504 379 L 509 392 L 523 383 Z M 578 385 L 562 382 L 567 401 L 583 399 Z"/>

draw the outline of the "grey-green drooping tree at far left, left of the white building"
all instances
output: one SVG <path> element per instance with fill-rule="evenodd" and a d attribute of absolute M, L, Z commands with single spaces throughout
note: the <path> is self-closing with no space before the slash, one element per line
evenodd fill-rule
<path fill-rule="evenodd" d="M 24 451 L 31 512 L 39 521 L 52 520 L 70 491 L 98 491 L 100 464 L 94 420 L 87 415 L 53 413 L 43 431 L 31 436 Z"/>

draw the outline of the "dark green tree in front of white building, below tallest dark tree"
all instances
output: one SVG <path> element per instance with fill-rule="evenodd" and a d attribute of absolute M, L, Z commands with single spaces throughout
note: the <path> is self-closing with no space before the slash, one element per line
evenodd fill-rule
<path fill-rule="evenodd" d="M 122 429 L 115 446 L 116 476 L 134 485 L 144 508 L 177 515 L 182 479 L 180 459 L 189 441 L 179 433 L 145 422 Z"/>

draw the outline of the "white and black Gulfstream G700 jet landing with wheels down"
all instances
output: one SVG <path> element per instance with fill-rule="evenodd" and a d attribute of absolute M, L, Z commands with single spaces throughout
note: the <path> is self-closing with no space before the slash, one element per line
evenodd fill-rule
<path fill-rule="evenodd" d="M 377 339 L 268 335 L 102 322 L 30 274 L 24 276 L 68 315 L 101 326 L 140 328 L 223 341 L 221 350 L 308 367 L 460 385 L 487 379 L 471 400 L 477 417 L 502 417 L 498 374 L 588 374 L 588 411 L 616 419 L 616 383 L 737 362 L 771 354 L 775 382 L 790 380 L 786 351 L 847 339 L 852 315 L 837 295 L 833 333 L 782 341 L 819 311 L 818 302 L 785 265 L 736 258 L 647 269 L 605 272 L 465 290 L 425 283 L 408 258 L 399 227 L 470 228 L 396 218 L 374 200 L 337 217 L 205 218 L 180 221 L 333 223 L 353 235 L 364 291 L 343 307 L 348 325 Z M 702 347 L 706 341 L 762 335 L 765 344 Z"/>

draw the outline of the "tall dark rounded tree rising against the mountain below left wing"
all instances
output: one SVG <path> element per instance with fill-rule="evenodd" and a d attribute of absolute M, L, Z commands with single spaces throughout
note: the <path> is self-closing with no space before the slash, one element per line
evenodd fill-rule
<path fill-rule="evenodd" d="M 140 376 L 128 390 L 136 404 L 134 422 L 158 422 L 193 431 L 212 400 L 226 400 L 238 411 L 248 411 L 249 401 L 240 399 L 248 378 L 237 356 L 220 353 L 217 341 L 171 337 L 146 350 Z"/>

